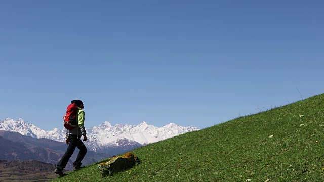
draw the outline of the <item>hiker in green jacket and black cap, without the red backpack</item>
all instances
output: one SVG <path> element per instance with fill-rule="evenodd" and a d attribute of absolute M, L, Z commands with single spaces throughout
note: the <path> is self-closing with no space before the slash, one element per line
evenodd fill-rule
<path fill-rule="evenodd" d="M 87 148 L 85 144 L 81 141 L 81 135 L 83 135 L 83 141 L 87 141 L 86 136 L 86 129 L 84 126 L 85 121 L 85 112 L 82 110 L 84 108 L 83 102 L 81 100 L 73 100 L 71 101 L 71 104 L 75 104 L 77 106 L 77 112 L 76 112 L 76 121 L 77 126 L 73 129 L 68 130 L 68 136 L 66 139 L 66 144 L 69 146 L 67 147 L 67 150 L 61 160 L 57 163 L 56 169 L 54 172 L 60 176 L 64 176 L 63 169 L 65 168 L 68 160 L 72 156 L 75 148 L 77 147 L 80 151 L 76 157 L 76 160 L 73 162 L 73 168 L 74 170 L 79 170 L 82 163 L 82 159 L 85 157 L 87 153 Z"/>

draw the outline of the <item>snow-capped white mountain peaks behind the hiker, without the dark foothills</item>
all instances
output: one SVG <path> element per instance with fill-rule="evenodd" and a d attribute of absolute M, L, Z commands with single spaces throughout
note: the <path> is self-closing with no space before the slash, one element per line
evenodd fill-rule
<path fill-rule="evenodd" d="M 54 128 L 51 131 L 45 131 L 31 123 L 27 123 L 23 119 L 15 121 L 10 118 L 0 120 L 0 129 L 19 132 L 33 138 L 45 138 L 60 142 L 65 140 L 66 131 L 65 128 L 61 130 Z M 144 121 L 137 125 L 111 125 L 106 121 L 99 126 L 86 128 L 88 140 L 85 145 L 89 150 L 95 152 L 111 153 L 116 148 L 124 148 L 121 151 L 127 151 L 196 130 L 199 129 L 191 126 L 183 127 L 173 123 L 163 127 L 156 127 Z"/>

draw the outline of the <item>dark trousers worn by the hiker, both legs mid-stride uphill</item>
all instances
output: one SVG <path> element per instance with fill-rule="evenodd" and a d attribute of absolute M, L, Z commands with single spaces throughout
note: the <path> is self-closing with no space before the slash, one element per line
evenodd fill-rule
<path fill-rule="evenodd" d="M 77 138 L 76 134 L 70 134 L 69 135 L 70 143 L 67 147 L 67 150 L 59 163 L 57 163 L 56 168 L 63 170 L 69 161 L 70 157 L 72 156 L 75 148 L 77 147 L 80 151 L 77 154 L 76 160 L 73 162 L 73 166 L 81 166 L 81 161 L 85 157 L 87 153 L 87 148 L 85 144 L 81 141 L 80 138 Z"/>

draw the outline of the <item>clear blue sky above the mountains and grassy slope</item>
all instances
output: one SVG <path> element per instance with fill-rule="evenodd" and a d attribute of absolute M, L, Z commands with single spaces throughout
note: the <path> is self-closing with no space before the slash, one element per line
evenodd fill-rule
<path fill-rule="evenodd" d="M 323 1 L 1 1 L 0 119 L 205 128 L 324 90 Z"/>

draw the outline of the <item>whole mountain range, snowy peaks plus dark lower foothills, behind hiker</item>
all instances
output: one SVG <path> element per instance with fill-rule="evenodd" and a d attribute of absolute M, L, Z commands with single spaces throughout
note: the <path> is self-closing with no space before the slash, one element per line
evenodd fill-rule
<path fill-rule="evenodd" d="M 173 123 L 156 127 L 144 121 L 137 125 L 111 125 L 104 122 L 99 126 L 86 128 L 85 145 L 88 148 L 86 155 L 88 159 L 85 159 L 84 164 L 196 130 L 199 129 Z M 2 154 L 0 160 L 39 160 L 57 163 L 67 148 L 64 143 L 65 132 L 63 124 L 62 129 L 45 131 L 23 119 L 0 120 L 0 154 Z"/>

